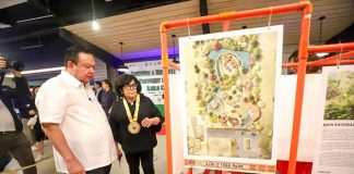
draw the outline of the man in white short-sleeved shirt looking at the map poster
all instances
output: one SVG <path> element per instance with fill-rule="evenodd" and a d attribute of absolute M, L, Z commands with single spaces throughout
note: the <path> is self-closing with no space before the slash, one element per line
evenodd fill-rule
<path fill-rule="evenodd" d="M 39 121 L 54 145 L 58 172 L 109 174 L 117 159 L 105 111 L 90 86 L 95 59 L 84 47 L 70 47 L 64 70 L 42 85 L 36 96 Z"/>

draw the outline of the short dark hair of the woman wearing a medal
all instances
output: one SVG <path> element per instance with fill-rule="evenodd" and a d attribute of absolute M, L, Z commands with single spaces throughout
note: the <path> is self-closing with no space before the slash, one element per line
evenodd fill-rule
<path fill-rule="evenodd" d="M 125 85 L 129 85 L 131 83 L 131 80 L 134 80 L 137 84 L 137 92 L 138 94 L 141 92 L 141 83 L 134 75 L 121 74 L 118 76 L 118 78 L 116 79 L 116 84 L 115 84 L 115 88 L 116 88 L 117 95 L 119 97 L 123 97 L 122 88 L 125 87 Z"/>

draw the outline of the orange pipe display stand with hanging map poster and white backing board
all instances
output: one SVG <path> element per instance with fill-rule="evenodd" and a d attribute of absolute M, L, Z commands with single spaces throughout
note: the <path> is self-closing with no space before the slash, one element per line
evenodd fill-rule
<path fill-rule="evenodd" d="M 283 30 L 271 16 L 295 11 L 302 12 L 298 63 L 282 66 L 297 75 L 281 76 Z M 310 172 L 321 123 L 314 103 L 322 94 L 321 76 L 306 75 L 306 67 L 354 63 L 345 60 L 354 44 L 309 46 L 311 13 L 311 3 L 300 1 L 161 24 L 168 174 L 185 167 L 295 174 L 296 165 L 296 173 Z M 231 20 L 259 15 L 269 15 L 268 26 L 227 32 Z M 223 22 L 223 33 L 180 38 L 181 64 L 169 62 L 168 29 L 214 22 Z M 340 54 L 307 62 L 316 52 Z M 168 75 L 168 66 L 180 74 Z"/>

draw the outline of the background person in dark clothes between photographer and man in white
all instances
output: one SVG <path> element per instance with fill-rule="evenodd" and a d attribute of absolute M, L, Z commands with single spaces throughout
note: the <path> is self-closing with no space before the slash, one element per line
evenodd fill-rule
<path fill-rule="evenodd" d="M 35 105 L 35 99 L 36 95 L 39 90 L 39 86 L 36 86 L 32 90 L 32 97 L 30 100 L 30 105 L 28 105 L 28 114 L 31 116 L 30 123 L 27 125 L 33 126 L 33 130 L 35 133 L 35 139 L 36 139 L 36 148 L 38 149 L 38 154 L 35 161 L 42 161 L 44 159 L 44 140 L 46 138 L 44 132 L 42 130 L 42 126 L 39 123 L 38 119 L 38 111 Z"/>

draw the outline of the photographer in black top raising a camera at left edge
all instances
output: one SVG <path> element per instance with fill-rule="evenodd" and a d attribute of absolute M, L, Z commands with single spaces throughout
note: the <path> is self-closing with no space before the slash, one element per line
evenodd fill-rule
<path fill-rule="evenodd" d="M 12 70 L 16 88 L 2 86 L 5 71 L 9 63 L 0 57 L 0 158 L 7 157 L 10 152 L 21 166 L 27 166 L 35 163 L 31 151 L 31 144 L 23 134 L 23 125 L 19 120 L 14 109 L 15 98 L 27 98 L 28 86 L 26 79 L 22 76 L 19 69 Z M 20 69 L 21 70 L 21 69 Z M 24 174 L 36 174 L 36 166 L 23 171 Z"/>

